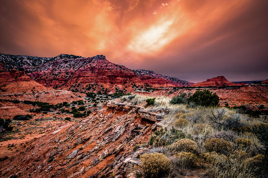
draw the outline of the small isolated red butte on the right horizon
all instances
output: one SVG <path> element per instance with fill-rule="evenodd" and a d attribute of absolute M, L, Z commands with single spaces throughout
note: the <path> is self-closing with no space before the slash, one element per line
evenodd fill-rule
<path fill-rule="evenodd" d="M 214 77 L 203 82 L 198 82 L 191 86 L 192 87 L 208 87 L 208 86 L 222 87 L 222 86 L 233 86 L 233 85 L 244 85 L 244 83 L 232 83 L 232 82 L 229 82 L 224 76 L 218 76 L 218 77 Z"/>

